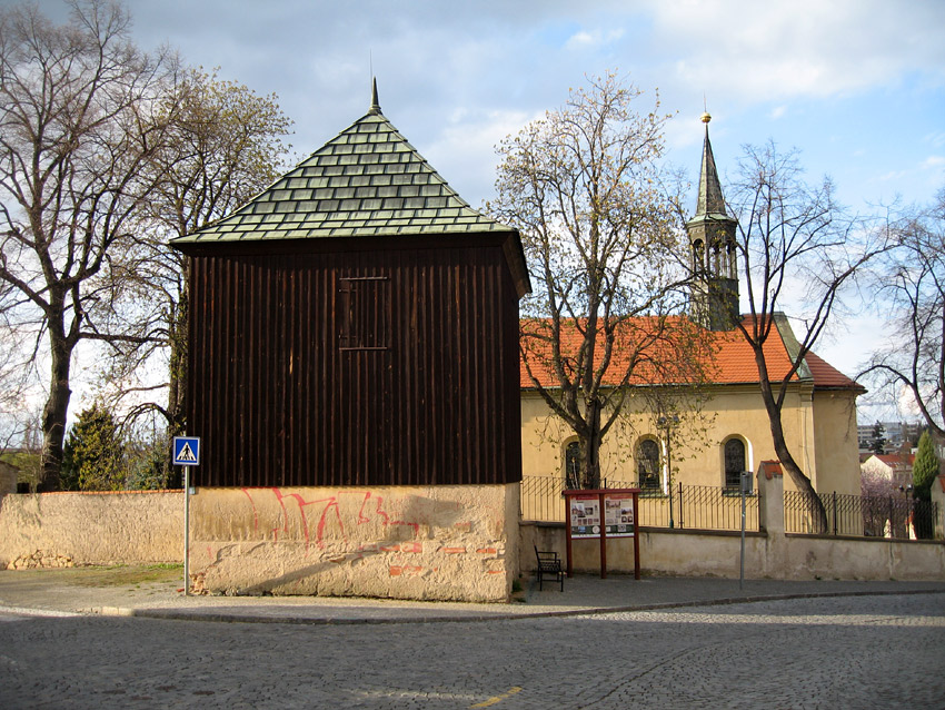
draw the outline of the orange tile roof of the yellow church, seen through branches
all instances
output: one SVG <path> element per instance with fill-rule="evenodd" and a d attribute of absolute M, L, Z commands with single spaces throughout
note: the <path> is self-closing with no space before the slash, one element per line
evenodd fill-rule
<path fill-rule="evenodd" d="M 750 323 L 752 316 L 743 316 L 743 323 L 748 326 Z M 692 324 L 687 318 L 675 317 L 668 321 L 670 327 L 697 327 Z M 525 325 L 527 322 L 523 322 Z M 550 323 L 550 322 L 547 322 Z M 630 328 L 631 335 L 629 338 L 631 343 L 627 348 L 620 348 L 615 346 L 614 354 L 614 363 L 611 364 L 608 374 L 611 375 L 611 378 L 606 382 L 608 385 L 618 384 L 618 378 L 626 372 L 626 367 L 628 364 L 628 356 L 625 351 L 633 352 L 636 349 L 633 345 L 633 342 L 636 342 L 640 335 L 646 335 L 648 332 L 648 324 L 656 323 L 654 318 L 634 318 L 633 327 Z M 709 368 L 714 368 L 714 373 L 712 373 L 710 381 L 713 384 L 748 384 L 748 383 L 757 383 L 758 382 L 758 369 L 755 364 L 755 354 L 750 347 L 750 345 L 746 342 L 745 337 L 742 335 L 739 331 L 727 331 L 727 332 L 712 332 L 712 331 L 703 331 L 702 336 L 705 338 L 705 353 L 703 355 L 705 361 L 708 361 L 709 353 L 715 353 L 714 362 L 709 366 Z M 570 323 L 570 327 L 565 328 L 563 324 L 563 333 L 561 333 L 561 351 L 565 355 L 576 355 L 581 343 L 583 336 L 580 335 L 577 327 L 574 326 L 574 323 Z M 535 351 L 534 341 L 529 339 L 530 347 Z M 659 344 L 654 344 L 650 347 L 660 347 Z M 669 346 L 665 346 L 669 347 Z M 540 355 L 540 354 L 539 354 Z M 787 348 L 784 344 L 784 341 L 780 337 L 780 333 L 776 327 L 772 328 L 772 336 L 765 343 L 765 361 L 768 367 L 768 375 L 772 382 L 780 382 L 785 375 L 787 375 L 790 369 L 790 358 L 787 354 Z M 545 365 L 544 363 L 537 361 L 536 358 L 531 358 L 530 361 L 533 371 L 537 374 L 538 381 L 545 387 L 555 387 L 557 386 L 557 379 L 555 377 L 554 372 L 550 369 L 549 365 Z M 598 361 L 599 362 L 599 358 Z M 810 374 L 814 377 L 814 386 L 815 388 L 819 387 L 829 387 L 829 388 L 859 388 L 862 386 L 856 382 L 830 366 L 823 358 L 818 357 L 814 353 L 808 353 L 806 357 L 807 366 L 810 369 Z M 654 377 L 655 369 L 653 366 L 647 366 L 647 363 L 641 362 L 635 368 L 635 376 L 631 379 L 631 384 L 653 384 L 654 381 L 662 379 L 666 382 L 666 377 Z M 798 379 L 797 374 L 795 373 L 792 376 L 793 379 Z M 535 385 L 531 382 L 531 378 L 528 375 L 528 371 L 526 369 L 525 361 L 523 357 L 519 357 L 519 383 L 523 388 L 534 388 Z"/>

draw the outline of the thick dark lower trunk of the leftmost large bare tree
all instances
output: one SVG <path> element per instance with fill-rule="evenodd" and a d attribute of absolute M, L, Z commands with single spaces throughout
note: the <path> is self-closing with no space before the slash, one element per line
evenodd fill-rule
<path fill-rule="evenodd" d="M 66 438 L 66 417 L 69 411 L 69 369 L 73 345 L 54 327 L 50 318 L 49 344 L 52 356 L 49 397 L 42 410 L 42 480 L 38 491 L 58 491 L 62 466 L 62 443 Z"/>

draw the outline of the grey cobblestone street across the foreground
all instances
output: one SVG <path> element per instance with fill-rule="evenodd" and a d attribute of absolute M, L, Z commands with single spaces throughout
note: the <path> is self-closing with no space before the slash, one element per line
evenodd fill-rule
<path fill-rule="evenodd" d="M 0 708 L 945 708 L 945 594 L 411 624 L 0 614 Z"/>

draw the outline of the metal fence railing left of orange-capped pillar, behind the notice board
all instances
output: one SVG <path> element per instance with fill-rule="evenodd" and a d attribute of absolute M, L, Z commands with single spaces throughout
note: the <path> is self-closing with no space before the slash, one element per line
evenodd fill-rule
<path fill-rule="evenodd" d="M 605 489 L 640 487 L 635 481 L 605 479 Z M 524 476 L 521 480 L 521 516 L 525 520 L 565 522 L 559 476 Z M 670 494 L 662 489 L 641 489 L 639 524 L 651 527 L 694 530 L 742 530 L 742 496 L 737 491 L 705 485 L 673 485 Z M 758 530 L 758 499 L 745 499 L 745 529 Z"/>

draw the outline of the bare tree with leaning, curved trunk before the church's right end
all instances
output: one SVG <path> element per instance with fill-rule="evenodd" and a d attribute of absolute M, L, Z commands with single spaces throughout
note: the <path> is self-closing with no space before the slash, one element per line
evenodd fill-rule
<path fill-rule="evenodd" d="M 782 154 L 773 142 L 746 147 L 733 187 L 730 206 L 738 221 L 738 250 L 752 316 L 737 328 L 755 355 L 775 452 L 797 489 L 810 494 L 814 512 L 826 526 L 810 479 L 787 445 L 782 412 L 792 383 L 804 374 L 805 358 L 839 305 L 843 289 L 887 245 L 884 239 L 874 243 L 871 233 L 859 229 L 858 221 L 835 203 L 829 180 L 808 185 L 796 151 Z M 795 297 L 797 327 L 788 328 L 782 309 Z M 789 366 L 778 377 L 765 344 L 779 331 Z"/>

